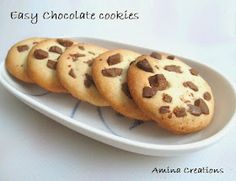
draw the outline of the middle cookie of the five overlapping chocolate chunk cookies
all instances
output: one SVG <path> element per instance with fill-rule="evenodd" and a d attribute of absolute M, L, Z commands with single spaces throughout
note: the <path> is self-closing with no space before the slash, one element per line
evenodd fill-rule
<path fill-rule="evenodd" d="M 68 48 L 59 58 L 57 75 L 62 85 L 76 98 L 96 106 L 108 106 L 91 75 L 93 59 L 107 49 L 90 44 Z"/>

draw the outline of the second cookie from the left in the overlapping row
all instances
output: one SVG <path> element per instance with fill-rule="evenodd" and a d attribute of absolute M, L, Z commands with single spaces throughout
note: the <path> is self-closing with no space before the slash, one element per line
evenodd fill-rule
<path fill-rule="evenodd" d="M 27 60 L 29 77 L 51 92 L 67 92 L 57 78 L 56 66 L 61 54 L 73 44 L 72 40 L 48 39 L 33 47 Z"/>

